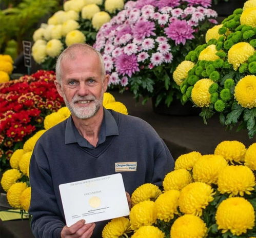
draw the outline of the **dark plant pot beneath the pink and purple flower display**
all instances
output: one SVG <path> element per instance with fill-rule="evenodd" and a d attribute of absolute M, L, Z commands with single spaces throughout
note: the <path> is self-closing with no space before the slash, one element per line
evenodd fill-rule
<path fill-rule="evenodd" d="M 187 102 L 184 105 L 181 104 L 181 101 L 173 98 L 170 106 L 161 102 L 159 105 L 155 106 L 155 98 L 152 97 L 152 106 L 153 112 L 158 114 L 165 114 L 165 115 L 175 115 L 175 116 L 198 116 L 201 112 L 200 108 L 192 107 L 193 104 L 191 102 Z"/>

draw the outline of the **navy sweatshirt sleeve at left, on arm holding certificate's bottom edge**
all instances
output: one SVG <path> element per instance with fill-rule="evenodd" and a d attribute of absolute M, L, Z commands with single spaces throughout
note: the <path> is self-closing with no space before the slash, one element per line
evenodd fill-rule
<path fill-rule="evenodd" d="M 55 199 L 50 169 L 43 149 L 37 146 L 30 161 L 31 229 L 36 238 L 60 238 L 65 226 Z"/>

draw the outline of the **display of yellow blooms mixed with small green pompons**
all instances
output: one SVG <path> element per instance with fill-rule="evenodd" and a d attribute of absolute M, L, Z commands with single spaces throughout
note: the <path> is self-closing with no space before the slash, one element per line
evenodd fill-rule
<path fill-rule="evenodd" d="M 223 125 L 239 123 L 249 137 L 256 134 L 255 13 L 256 1 L 247 1 L 209 29 L 206 44 L 190 51 L 173 73 L 182 101 L 201 107 L 204 120 L 219 112 Z"/>

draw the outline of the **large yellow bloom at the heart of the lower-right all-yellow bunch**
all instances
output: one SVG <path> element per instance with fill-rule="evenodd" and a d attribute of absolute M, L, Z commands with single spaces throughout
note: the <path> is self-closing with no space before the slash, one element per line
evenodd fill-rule
<path fill-rule="evenodd" d="M 194 182 L 181 190 L 179 207 L 181 212 L 201 216 L 203 209 L 213 201 L 213 189 L 202 182 Z"/>

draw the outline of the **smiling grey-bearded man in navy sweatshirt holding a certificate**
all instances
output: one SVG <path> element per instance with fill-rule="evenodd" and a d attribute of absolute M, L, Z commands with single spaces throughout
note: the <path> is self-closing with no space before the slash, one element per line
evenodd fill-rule
<path fill-rule="evenodd" d="M 136 169 L 121 172 L 131 194 L 144 183 L 161 185 L 173 169 L 173 158 L 149 124 L 103 108 L 109 75 L 101 54 L 92 47 L 74 44 L 64 50 L 56 64 L 56 78 L 56 88 L 71 116 L 45 132 L 34 148 L 30 162 L 32 231 L 35 237 L 99 238 L 106 221 L 65 225 L 58 186 L 114 174 L 115 163 L 134 162 Z"/>

